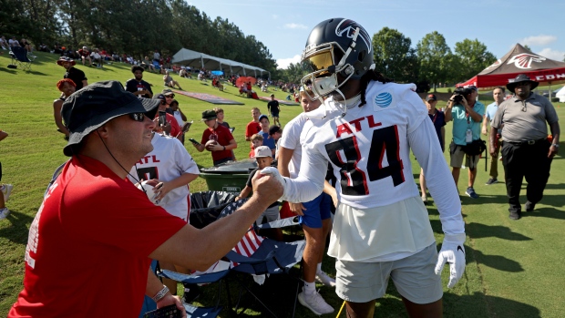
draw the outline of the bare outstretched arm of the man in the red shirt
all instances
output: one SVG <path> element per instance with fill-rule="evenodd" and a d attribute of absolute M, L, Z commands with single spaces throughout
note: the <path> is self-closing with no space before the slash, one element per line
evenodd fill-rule
<path fill-rule="evenodd" d="M 233 214 L 200 230 L 187 224 L 152 251 L 149 257 L 198 271 L 207 270 L 213 262 L 231 251 L 250 225 L 282 195 L 281 183 L 274 176 L 262 175 L 261 171 L 253 177 L 252 185 L 252 197 Z"/>

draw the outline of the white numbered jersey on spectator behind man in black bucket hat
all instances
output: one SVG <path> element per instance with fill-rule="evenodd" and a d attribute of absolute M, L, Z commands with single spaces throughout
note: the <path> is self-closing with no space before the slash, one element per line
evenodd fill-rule
<path fill-rule="evenodd" d="M 190 157 L 179 139 L 156 133 L 151 139 L 151 144 L 153 151 L 140 159 L 136 166 L 129 171 L 139 180 L 170 181 L 179 178 L 183 173 L 200 174 L 196 162 Z M 128 178 L 133 183 L 138 182 L 138 180 L 132 180 L 129 176 Z M 161 205 L 163 209 L 182 220 L 189 221 L 189 185 L 170 190 L 166 199 L 163 200 L 165 203 Z"/>

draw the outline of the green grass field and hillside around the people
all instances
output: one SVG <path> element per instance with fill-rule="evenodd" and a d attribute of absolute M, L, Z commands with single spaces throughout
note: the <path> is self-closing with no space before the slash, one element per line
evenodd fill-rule
<path fill-rule="evenodd" d="M 22 289 L 28 228 L 41 204 L 46 184 L 53 170 L 67 160 L 61 151 L 66 141 L 62 134 L 56 132 L 52 116 L 52 103 L 59 95 L 55 84 L 63 77 L 65 70 L 56 66 L 58 56 L 42 53 L 36 55 L 38 58 L 31 72 L 6 68 L 10 59 L 5 51 L 4 55 L 0 56 L 0 128 L 10 135 L 0 142 L 0 161 L 4 173 L 2 181 L 15 186 L 6 204 L 12 214 L 6 220 L 0 221 L 0 316 L 6 315 L 15 302 L 17 293 Z M 123 83 L 132 77 L 129 67 L 125 64 L 113 64 L 103 69 L 80 65 L 77 67 L 86 72 L 89 83 L 106 79 L 117 79 Z M 211 88 L 210 82 L 202 83 L 178 76 L 174 78 L 188 91 L 209 93 L 245 103 L 243 106 L 221 108 L 225 110 L 225 120 L 236 128 L 234 137 L 239 145 L 239 148 L 235 149 L 236 157 L 247 158 L 249 145 L 243 135 L 245 125 L 251 120 L 250 110 L 252 107 L 258 107 L 266 113 L 266 102 L 239 97 L 236 87 L 228 87 L 222 93 Z M 144 79 L 153 84 L 154 92 L 163 88 L 159 75 L 146 72 Z M 260 91 L 258 94 L 268 95 Z M 278 98 L 286 97 L 286 93 L 281 91 L 274 94 Z M 200 114 L 214 105 L 180 95 L 177 99 L 189 120 L 194 119 L 187 138 L 200 139 L 205 128 L 204 124 L 200 123 Z M 488 104 L 491 100 L 484 102 Z M 440 101 L 439 104 L 438 107 L 443 107 L 445 102 Z M 554 105 L 560 118 L 563 118 L 565 104 Z M 282 124 L 287 123 L 301 110 L 300 107 L 282 106 Z M 446 139 L 450 138 L 451 125 L 448 124 Z M 190 142 L 187 142 L 186 146 L 201 167 L 211 166 L 210 153 L 195 151 Z M 508 219 L 504 184 L 484 185 L 488 180 L 484 165 L 483 159 L 479 165 L 475 186 L 480 198 L 471 200 L 466 196 L 462 197 L 467 223 L 467 271 L 454 289 L 445 289 L 445 316 L 563 317 L 565 241 L 562 240 L 561 231 L 565 228 L 565 162 L 561 156 L 554 159 L 544 199 L 535 211 L 524 213 L 520 221 Z M 503 180 L 502 165 L 498 168 L 501 172 L 498 180 Z M 419 166 L 414 161 L 416 179 L 418 171 Z M 467 172 L 463 170 L 459 181 L 461 194 L 466 183 Z M 207 190 L 206 183 L 201 178 L 191 184 L 192 192 L 199 190 Z M 443 234 L 437 209 L 431 205 L 428 210 L 437 241 L 441 242 Z M 327 257 L 324 270 L 331 275 L 335 273 L 334 264 Z M 108 277 L 108 281 L 116 280 L 115 277 Z M 444 271 L 443 280 L 447 282 L 447 271 Z M 77 286 L 77 292 L 80 292 L 81 288 L 87 286 Z M 277 303 L 278 299 L 286 300 L 293 288 L 287 281 L 272 276 L 258 291 L 272 299 L 273 303 Z M 328 288 L 322 287 L 320 292 L 324 299 L 334 306 L 335 315 L 342 304 L 341 300 Z M 234 295 L 235 293 L 232 293 L 232 297 Z M 202 303 L 209 302 L 204 299 Z M 282 311 L 290 310 L 284 305 L 280 306 Z M 406 317 L 402 301 L 392 284 L 385 298 L 377 301 L 376 306 L 377 317 Z M 297 317 L 313 317 L 313 314 L 300 304 L 296 313 Z M 265 316 L 256 304 L 244 314 Z M 222 313 L 222 316 L 227 314 Z M 341 317 L 344 316 L 342 313 Z"/>

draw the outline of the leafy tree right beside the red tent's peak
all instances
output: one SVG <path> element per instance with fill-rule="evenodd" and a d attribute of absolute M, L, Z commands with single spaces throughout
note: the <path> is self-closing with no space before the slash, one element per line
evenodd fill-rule
<path fill-rule="evenodd" d="M 480 71 L 493 64 L 497 57 L 488 52 L 487 46 L 478 39 L 464 39 L 455 44 L 455 63 L 457 68 L 450 72 L 449 80 L 460 82 L 476 76 Z"/>

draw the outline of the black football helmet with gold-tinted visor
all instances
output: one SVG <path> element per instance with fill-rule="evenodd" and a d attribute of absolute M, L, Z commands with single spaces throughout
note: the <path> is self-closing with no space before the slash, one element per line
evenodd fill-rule
<path fill-rule="evenodd" d="M 310 32 L 301 63 L 308 72 L 301 82 L 312 90 L 312 99 L 326 97 L 334 91 L 344 97 L 339 87 L 375 68 L 371 36 L 353 20 L 325 20 Z M 341 82 L 337 74 L 344 78 Z"/>

